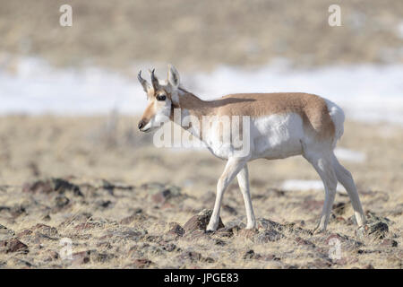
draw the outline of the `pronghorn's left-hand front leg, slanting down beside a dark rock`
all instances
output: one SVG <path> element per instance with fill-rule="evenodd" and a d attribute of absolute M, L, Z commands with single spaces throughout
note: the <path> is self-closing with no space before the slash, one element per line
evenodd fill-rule
<path fill-rule="evenodd" d="M 207 225 L 208 231 L 217 230 L 219 227 L 219 209 L 221 207 L 222 196 L 224 195 L 229 183 L 236 177 L 239 170 L 244 168 L 245 163 L 246 161 L 243 158 L 228 159 L 226 168 L 217 183 L 216 202 L 214 204 L 214 210 L 211 214 L 210 222 Z"/>

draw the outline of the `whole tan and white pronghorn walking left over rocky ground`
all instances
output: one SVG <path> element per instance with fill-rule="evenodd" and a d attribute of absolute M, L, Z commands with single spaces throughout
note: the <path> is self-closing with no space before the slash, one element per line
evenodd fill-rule
<path fill-rule="evenodd" d="M 365 216 L 356 191 L 351 173 L 336 158 L 333 150 L 343 134 L 344 112 L 330 100 L 317 95 L 302 92 L 281 93 L 239 93 L 230 94 L 218 100 L 201 100 L 193 93 L 180 86 L 179 74 L 174 66 L 168 66 L 167 81 L 159 81 L 150 71 L 151 84 L 138 74 L 144 91 L 147 93 L 148 106 L 139 122 L 142 132 L 150 132 L 161 123 L 173 120 L 174 109 L 180 109 L 183 117 L 199 118 L 209 115 L 247 116 L 250 117 L 249 152 L 243 156 L 234 156 L 231 144 L 215 145 L 219 127 L 208 127 L 208 133 L 202 133 L 201 141 L 210 152 L 227 160 L 224 172 L 217 184 L 217 196 L 214 210 L 207 226 L 208 231 L 219 226 L 219 209 L 224 192 L 237 178 L 244 197 L 247 217 L 247 229 L 253 229 L 256 221 L 249 192 L 247 162 L 256 159 L 283 159 L 293 155 L 302 155 L 309 161 L 322 178 L 325 201 L 322 215 L 315 232 L 326 230 L 331 207 L 336 195 L 338 181 L 343 185 L 353 204 L 356 222 L 364 225 Z M 200 130 L 190 126 L 187 130 L 200 136 Z"/>

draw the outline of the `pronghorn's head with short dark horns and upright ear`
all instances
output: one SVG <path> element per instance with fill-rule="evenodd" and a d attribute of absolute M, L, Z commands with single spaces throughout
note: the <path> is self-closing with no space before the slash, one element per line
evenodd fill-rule
<path fill-rule="evenodd" d="M 141 132 L 151 132 L 173 117 L 174 105 L 179 103 L 179 74 L 173 65 L 168 65 L 167 80 L 159 81 L 150 71 L 151 84 L 141 77 L 141 71 L 137 79 L 147 93 L 148 105 L 139 122 Z"/>

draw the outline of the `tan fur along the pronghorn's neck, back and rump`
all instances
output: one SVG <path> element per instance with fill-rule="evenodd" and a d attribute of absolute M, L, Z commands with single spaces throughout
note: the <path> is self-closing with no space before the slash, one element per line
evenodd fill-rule
<path fill-rule="evenodd" d="M 237 93 L 217 100 L 201 100 L 188 91 L 180 97 L 179 106 L 194 116 L 250 116 L 296 113 L 304 128 L 320 138 L 333 138 L 335 126 L 326 101 L 303 92 Z"/>

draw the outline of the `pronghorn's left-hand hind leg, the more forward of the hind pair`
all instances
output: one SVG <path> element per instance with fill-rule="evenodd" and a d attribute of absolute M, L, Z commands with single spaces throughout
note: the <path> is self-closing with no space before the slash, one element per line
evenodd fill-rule
<path fill-rule="evenodd" d="M 326 230 L 329 222 L 331 207 L 336 196 L 338 179 L 331 164 L 332 161 L 330 153 L 314 153 L 316 154 L 314 154 L 313 156 L 308 156 L 307 154 L 304 154 L 304 158 L 309 161 L 313 165 L 313 168 L 318 172 L 319 176 L 322 178 L 323 186 L 325 189 L 325 201 L 322 208 L 322 215 L 318 225 L 314 229 L 314 232 L 316 233 Z"/>

